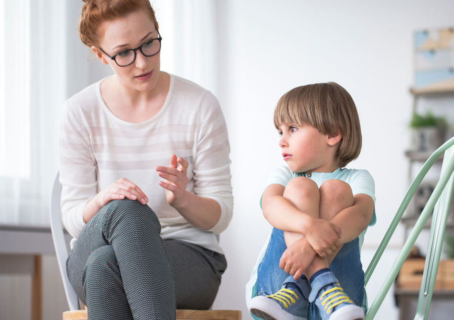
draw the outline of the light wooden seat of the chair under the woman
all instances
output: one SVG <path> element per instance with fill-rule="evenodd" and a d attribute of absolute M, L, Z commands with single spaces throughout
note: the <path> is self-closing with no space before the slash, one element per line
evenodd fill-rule
<path fill-rule="evenodd" d="M 87 320 L 87 310 L 63 312 L 63 320 Z M 241 320 L 240 310 L 177 310 L 177 320 Z"/>

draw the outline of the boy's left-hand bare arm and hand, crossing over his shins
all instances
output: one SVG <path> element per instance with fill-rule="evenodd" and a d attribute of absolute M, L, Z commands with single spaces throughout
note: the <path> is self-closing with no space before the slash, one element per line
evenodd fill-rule
<path fill-rule="evenodd" d="M 285 187 L 280 184 L 266 187 L 262 196 L 262 211 L 266 220 L 277 229 L 304 235 L 321 257 L 334 252 L 341 245 L 341 229 L 329 221 L 300 211 L 283 197 L 284 190 Z"/>

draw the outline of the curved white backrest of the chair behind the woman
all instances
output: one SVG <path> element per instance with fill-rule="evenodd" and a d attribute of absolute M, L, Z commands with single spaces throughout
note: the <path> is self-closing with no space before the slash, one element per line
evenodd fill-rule
<path fill-rule="evenodd" d="M 60 274 L 65 287 L 66 298 L 71 310 L 79 309 L 79 300 L 74 291 L 66 272 L 66 260 L 68 259 L 68 248 L 66 247 L 65 236 L 63 234 L 63 225 L 60 212 L 60 194 L 62 185 L 59 181 L 60 174 L 57 172 L 52 187 L 50 197 L 50 229 L 52 231 L 53 245 L 55 247 L 56 258 L 59 263 Z"/>

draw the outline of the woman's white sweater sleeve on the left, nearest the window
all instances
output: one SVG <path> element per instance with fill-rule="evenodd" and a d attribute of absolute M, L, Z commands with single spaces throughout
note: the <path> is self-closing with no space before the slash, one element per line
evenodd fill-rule
<path fill-rule="evenodd" d="M 80 125 L 68 101 L 62 112 L 59 149 L 63 224 L 77 238 L 85 226 L 85 204 L 97 194 L 96 161 L 88 126 Z"/>

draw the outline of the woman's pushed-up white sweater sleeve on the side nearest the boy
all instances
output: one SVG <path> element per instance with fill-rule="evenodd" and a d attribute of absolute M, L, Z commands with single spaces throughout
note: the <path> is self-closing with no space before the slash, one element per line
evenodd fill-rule
<path fill-rule="evenodd" d="M 219 221 L 208 231 L 220 233 L 229 225 L 233 214 L 230 145 L 222 110 L 210 92 L 202 98 L 195 135 L 194 193 L 219 204 Z"/>

